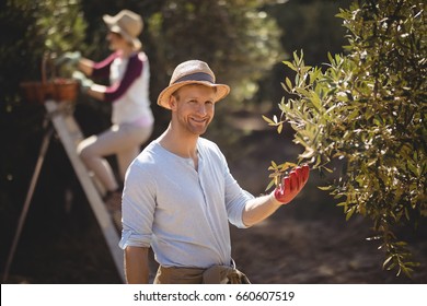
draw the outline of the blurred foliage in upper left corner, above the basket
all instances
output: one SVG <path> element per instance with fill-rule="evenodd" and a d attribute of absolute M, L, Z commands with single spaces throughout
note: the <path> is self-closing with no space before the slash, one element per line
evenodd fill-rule
<path fill-rule="evenodd" d="M 10 107 L 19 101 L 23 80 L 41 80 L 44 54 L 61 54 L 81 46 L 85 24 L 79 0 L 8 0 L 0 21 L 8 35 L 0 46 L 2 91 L 0 99 Z M 23 73 L 24 72 L 24 73 Z"/>

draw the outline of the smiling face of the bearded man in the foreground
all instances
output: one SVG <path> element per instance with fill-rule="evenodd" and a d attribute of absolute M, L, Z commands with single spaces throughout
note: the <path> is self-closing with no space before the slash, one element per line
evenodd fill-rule
<path fill-rule="evenodd" d="M 192 134 L 206 132 L 215 114 L 215 89 L 204 85 L 181 87 L 171 98 L 173 119 Z"/>

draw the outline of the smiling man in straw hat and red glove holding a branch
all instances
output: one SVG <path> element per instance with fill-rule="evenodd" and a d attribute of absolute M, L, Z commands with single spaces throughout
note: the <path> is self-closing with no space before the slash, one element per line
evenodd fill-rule
<path fill-rule="evenodd" d="M 189 60 L 160 93 L 171 122 L 129 166 L 123 193 L 119 245 L 129 283 L 148 283 L 150 247 L 160 264 L 154 283 L 249 283 L 231 258 L 228 222 L 250 227 L 305 185 L 308 166 L 268 196 L 255 198 L 238 185 L 219 148 L 200 137 L 229 92 L 206 62 Z"/>

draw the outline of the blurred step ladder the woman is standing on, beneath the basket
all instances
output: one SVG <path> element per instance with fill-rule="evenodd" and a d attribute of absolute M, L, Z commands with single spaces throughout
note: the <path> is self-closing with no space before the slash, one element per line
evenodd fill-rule
<path fill-rule="evenodd" d="M 53 99 L 48 99 L 45 102 L 45 107 L 47 110 L 47 116 L 45 119 L 44 126 L 47 126 L 50 121 L 51 128 L 46 131 L 46 134 L 44 137 L 44 140 L 42 142 L 41 153 L 37 160 L 37 164 L 33 174 L 32 181 L 30 184 L 28 193 L 21 213 L 21 217 L 18 224 L 18 231 L 12 244 L 12 248 L 9 255 L 9 259 L 7 262 L 5 271 L 3 274 L 3 283 L 5 283 L 5 280 L 9 274 L 9 269 L 13 259 L 13 255 L 22 232 L 22 227 L 25 222 L 26 213 L 30 208 L 32 195 L 35 189 L 35 185 L 37 183 L 38 174 L 41 172 L 44 156 L 46 154 L 49 139 L 54 132 L 58 136 L 60 139 L 68 158 L 71 162 L 71 165 L 76 172 L 77 177 L 79 178 L 79 181 L 83 188 L 83 191 L 88 198 L 88 201 L 91 205 L 91 209 L 96 217 L 96 221 L 101 227 L 101 231 L 103 233 L 103 236 L 105 238 L 105 242 L 107 244 L 107 247 L 109 249 L 109 252 L 113 257 L 114 263 L 116 266 L 117 272 L 122 279 L 123 282 L 125 282 L 125 274 L 124 274 L 124 255 L 123 250 L 118 247 L 119 243 L 119 234 L 117 233 L 117 229 L 114 225 L 114 222 L 108 213 L 108 211 L 105 208 L 105 204 L 102 200 L 102 196 L 105 190 L 103 189 L 102 185 L 96 181 L 96 179 L 91 176 L 82 161 L 80 160 L 79 155 L 77 154 L 77 145 L 79 142 L 83 139 L 83 134 L 80 130 L 79 125 L 77 123 L 72 111 L 72 105 L 67 102 L 56 102 Z"/>

